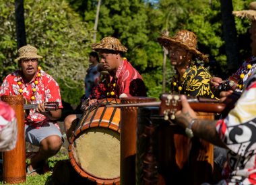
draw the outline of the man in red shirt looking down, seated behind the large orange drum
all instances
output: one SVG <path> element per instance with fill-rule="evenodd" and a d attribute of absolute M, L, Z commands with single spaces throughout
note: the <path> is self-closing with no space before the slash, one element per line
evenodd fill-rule
<path fill-rule="evenodd" d="M 92 50 L 96 50 L 100 56 L 100 62 L 104 70 L 108 71 L 108 79 L 100 82 L 92 90 L 89 97 L 89 105 L 97 99 L 121 97 L 146 97 L 146 88 L 143 80 L 127 61 L 123 58 L 123 53 L 127 48 L 121 44 L 117 38 L 106 37 L 98 44 L 92 44 Z M 71 137 L 75 125 L 81 115 L 69 115 L 64 121 L 67 138 Z"/>

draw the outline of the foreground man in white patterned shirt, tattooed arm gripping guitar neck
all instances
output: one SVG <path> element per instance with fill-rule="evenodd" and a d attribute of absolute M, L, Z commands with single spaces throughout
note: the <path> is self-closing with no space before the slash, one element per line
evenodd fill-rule
<path fill-rule="evenodd" d="M 256 71 L 224 119 L 199 120 L 185 97 L 181 97 L 181 103 L 182 111 L 177 111 L 176 119 L 187 135 L 195 135 L 228 151 L 225 179 L 218 184 L 256 184 Z"/>

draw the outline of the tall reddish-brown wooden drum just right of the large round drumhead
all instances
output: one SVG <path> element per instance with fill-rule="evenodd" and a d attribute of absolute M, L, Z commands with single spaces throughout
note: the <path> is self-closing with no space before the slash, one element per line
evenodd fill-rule
<path fill-rule="evenodd" d="M 148 97 L 121 98 L 122 104 L 156 101 Z M 121 108 L 121 184 L 135 184 L 135 154 L 138 107 Z"/>

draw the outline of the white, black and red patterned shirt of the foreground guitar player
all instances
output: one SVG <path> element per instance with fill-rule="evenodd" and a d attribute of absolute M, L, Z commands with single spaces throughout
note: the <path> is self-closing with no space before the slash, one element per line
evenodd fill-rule
<path fill-rule="evenodd" d="M 228 147 L 227 184 L 256 184 L 256 70 L 243 94 L 216 129 Z"/>

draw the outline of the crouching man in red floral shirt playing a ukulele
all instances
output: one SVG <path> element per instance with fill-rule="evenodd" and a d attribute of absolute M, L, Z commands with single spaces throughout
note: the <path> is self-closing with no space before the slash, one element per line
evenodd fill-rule
<path fill-rule="evenodd" d="M 38 66 L 37 49 L 23 46 L 18 50 L 20 70 L 12 72 L 3 80 L 0 95 L 22 95 L 36 109 L 30 109 L 25 119 L 26 141 L 39 146 L 39 152 L 32 157 L 27 168 L 28 174 L 38 172 L 47 158 L 54 156 L 61 149 L 62 135 L 56 120 L 61 117 L 61 95 L 57 82 Z M 58 102 L 59 109 L 47 111 L 46 102 Z"/>

